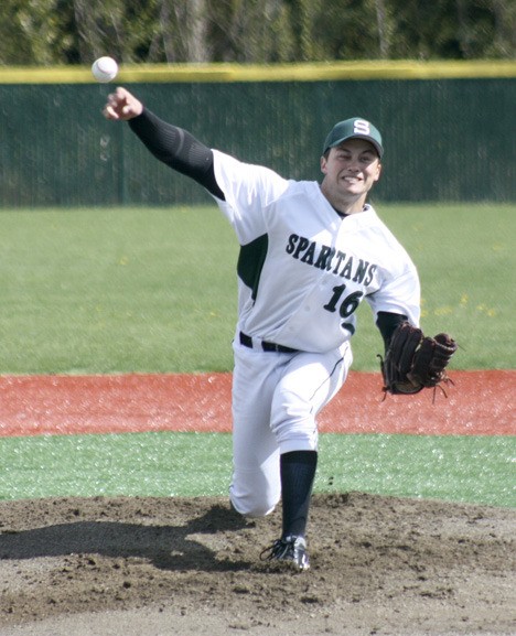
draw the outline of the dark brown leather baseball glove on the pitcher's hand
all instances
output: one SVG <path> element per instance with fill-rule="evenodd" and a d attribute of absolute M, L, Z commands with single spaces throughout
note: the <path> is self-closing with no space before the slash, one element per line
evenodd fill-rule
<path fill-rule="evenodd" d="M 450 381 L 445 367 L 456 348 L 455 341 L 448 334 L 428 337 L 410 323 L 400 323 L 385 359 L 379 356 L 384 391 L 410 395 Z"/>

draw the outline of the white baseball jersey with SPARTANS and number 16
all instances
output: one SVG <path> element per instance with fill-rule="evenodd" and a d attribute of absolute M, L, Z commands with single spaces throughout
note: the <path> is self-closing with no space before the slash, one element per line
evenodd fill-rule
<path fill-rule="evenodd" d="M 342 218 L 310 181 L 286 180 L 214 151 L 218 206 L 241 246 L 238 330 L 324 353 L 355 332 L 355 310 L 419 324 L 420 287 L 406 250 L 370 205 Z"/>

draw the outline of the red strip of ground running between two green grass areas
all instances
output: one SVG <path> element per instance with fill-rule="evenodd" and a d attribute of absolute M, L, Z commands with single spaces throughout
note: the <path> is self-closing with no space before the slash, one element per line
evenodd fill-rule
<path fill-rule="evenodd" d="M 322 432 L 514 435 L 516 371 L 454 371 L 448 399 L 388 396 L 378 374 L 352 373 L 320 417 Z M 0 436 L 229 432 L 230 374 L 3 376 Z"/>

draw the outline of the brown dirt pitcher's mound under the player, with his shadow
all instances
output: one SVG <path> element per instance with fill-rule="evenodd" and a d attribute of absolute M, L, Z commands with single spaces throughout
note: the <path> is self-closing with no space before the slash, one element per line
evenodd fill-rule
<path fill-rule="evenodd" d="M 514 634 L 515 510 L 315 495 L 309 527 L 298 573 L 221 498 L 0 502 L 0 634 Z"/>

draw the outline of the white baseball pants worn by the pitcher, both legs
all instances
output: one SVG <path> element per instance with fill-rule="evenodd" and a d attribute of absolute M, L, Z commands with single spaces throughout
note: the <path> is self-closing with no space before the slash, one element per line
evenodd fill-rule
<path fill-rule="evenodd" d="M 234 342 L 233 479 L 235 509 L 270 514 L 281 496 L 280 454 L 316 451 L 319 411 L 344 384 L 348 343 L 324 354 L 264 352 Z"/>

